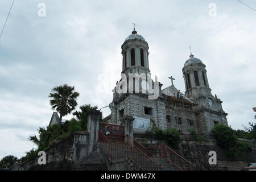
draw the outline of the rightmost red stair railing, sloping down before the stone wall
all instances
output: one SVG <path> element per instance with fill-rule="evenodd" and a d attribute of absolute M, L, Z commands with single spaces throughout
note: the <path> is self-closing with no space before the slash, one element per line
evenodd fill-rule
<path fill-rule="evenodd" d="M 194 164 L 184 159 L 165 144 L 160 144 L 154 147 L 147 147 L 146 150 L 147 155 L 150 156 L 150 158 L 164 158 L 168 160 L 168 162 L 174 164 L 174 166 L 181 171 L 197 170 Z"/>

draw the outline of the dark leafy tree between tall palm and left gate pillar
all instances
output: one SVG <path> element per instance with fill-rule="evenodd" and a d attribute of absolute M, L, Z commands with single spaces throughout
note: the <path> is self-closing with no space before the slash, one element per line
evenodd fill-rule
<path fill-rule="evenodd" d="M 82 129 L 86 130 L 87 129 L 87 123 L 88 123 L 88 116 L 91 110 L 96 110 L 98 109 L 97 106 L 90 106 L 90 104 L 85 104 L 79 107 L 81 111 L 75 111 L 73 113 L 73 115 L 75 115 L 77 117 L 77 119 L 79 119 L 79 121 L 81 122 L 81 127 Z M 102 120 L 102 116 L 100 118 L 100 121 Z"/>

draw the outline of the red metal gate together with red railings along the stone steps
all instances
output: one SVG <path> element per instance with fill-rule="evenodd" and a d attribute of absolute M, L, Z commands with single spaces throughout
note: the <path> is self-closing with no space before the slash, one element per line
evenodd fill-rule
<path fill-rule="evenodd" d="M 133 137 L 124 138 L 124 127 L 100 123 L 98 142 L 111 159 L 128 157 L 142 170 L 159 170 L 161 167 L 152 158 L 164 158 L 179 170 L 196 170 L 196 166 L 184 159 L 165 144 L 144 147 Z"/>

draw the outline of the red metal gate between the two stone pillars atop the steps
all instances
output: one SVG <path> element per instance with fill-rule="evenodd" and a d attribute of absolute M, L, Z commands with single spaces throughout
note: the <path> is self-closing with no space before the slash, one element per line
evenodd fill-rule
<path fill-rule="evenodd" d="M 123 142 L 125 139 L 125 130 L 121 125 L 112 125 L 109 123 L 100 123 L 99 137 L 102 137 L 102 134 L 105 135 L 110 141 L 117 140 L 119 142 Z"/>

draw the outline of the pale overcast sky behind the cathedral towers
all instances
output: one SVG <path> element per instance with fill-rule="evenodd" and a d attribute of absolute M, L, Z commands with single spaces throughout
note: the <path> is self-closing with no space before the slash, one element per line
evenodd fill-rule
<path fill-rule="evenodd" d="M 12 1 L 0 1 L 1 31 Z M 256 1 L 243 2 L 256 9 Z M 39 3 L 46 5 L 45 17 L 38 15 Z M 121 78 L 121 45 L 133 22 L 150 47 L 150 70 L 163 88 L 173 76 L 176 88 L 185 90 L 182 68 L 191 46 L 207 66 L 229 125 L 243 129 L 254 121 L 256 11 L 237 0 L 15 1 L 0 39 L 0 159 L 24 156 L 34 147 L 28 137 L 48 125 L 54 86 L 75 86 L 79 105 L 109 105 Z"/>

